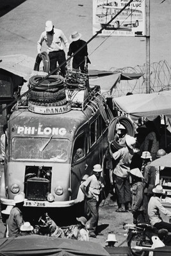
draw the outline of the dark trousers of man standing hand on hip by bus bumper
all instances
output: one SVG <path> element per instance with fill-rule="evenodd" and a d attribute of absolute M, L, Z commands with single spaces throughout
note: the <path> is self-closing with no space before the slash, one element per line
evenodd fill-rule
<path fill-rule="evenodd" d="M 90 221 L 90 233 L 95 232 L 99 221 L 99 202 L 95 198 L 86 198 L 86 204 L 92 215 Z"/>

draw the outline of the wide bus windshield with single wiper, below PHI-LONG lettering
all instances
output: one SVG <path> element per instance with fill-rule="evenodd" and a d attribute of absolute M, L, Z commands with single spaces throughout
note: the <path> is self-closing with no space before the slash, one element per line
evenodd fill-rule
<path fill-rule="evenodd" d="M 65 162 L 68 160 L 69 140 L 57 138 L 12 139 L 12 159 L 49 160 Z"/>

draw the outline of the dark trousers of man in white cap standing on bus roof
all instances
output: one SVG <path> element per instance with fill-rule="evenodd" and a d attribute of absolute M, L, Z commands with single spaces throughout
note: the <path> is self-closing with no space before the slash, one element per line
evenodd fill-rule
<path fill-rule="evenodd" d="M 62 62 L 64 62 L 66 60 L 65 51 L 63 51 L 63 50 L 50 51 L 49 59 L 50 59 L 50 71 L 53 71 L 54 69 L 56 69 L 57 62 L 60 65 Z M 65 74 L 66 74 L 65 67 L 66 67 L 66 63 L 63 64 L 60 68 L 61 74 L 63 75 L 63 77 L 65 77 Z M 55 75 L 55 74 L 56 74 L 56 72 L 53 75 Z"/>

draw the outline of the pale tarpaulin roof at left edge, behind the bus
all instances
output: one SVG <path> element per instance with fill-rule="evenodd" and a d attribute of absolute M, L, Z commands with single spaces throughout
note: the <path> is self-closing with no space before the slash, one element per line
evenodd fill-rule
<path fill-rule="evenodd" d="M 33 71 L 35 59 L 23 54 L 0 56 L 0 69 L 23 77 L 26 81 Z"/>

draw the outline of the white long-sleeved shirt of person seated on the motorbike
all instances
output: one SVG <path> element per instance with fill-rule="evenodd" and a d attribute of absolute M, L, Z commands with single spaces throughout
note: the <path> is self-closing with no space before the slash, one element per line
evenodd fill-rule
<path fill-rule="evenodd" d="M 149 205 L 148 205 L 148 214 L 149 214 L 149 219 L 150 223 L 152 226 L 154 224 L 159 223 L 162 221 L 160 215 L 159 215 L 159 210 L 167 215 L 171 216 L 171 212 L 168 211 L 162 204 L 161 204 L 161 199 L 157 196 L 152 196 Z"/>

